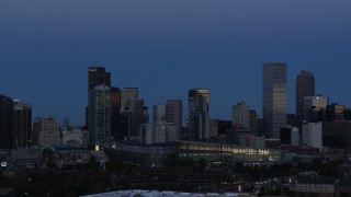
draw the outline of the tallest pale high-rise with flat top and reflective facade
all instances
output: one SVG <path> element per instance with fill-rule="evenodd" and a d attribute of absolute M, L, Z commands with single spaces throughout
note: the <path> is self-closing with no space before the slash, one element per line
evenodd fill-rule
<path fill-rule="evenodd" d="M 286 125 L 286 63 L 263 65 L 263 129 L 268 138 L 280 138 Z"/>

